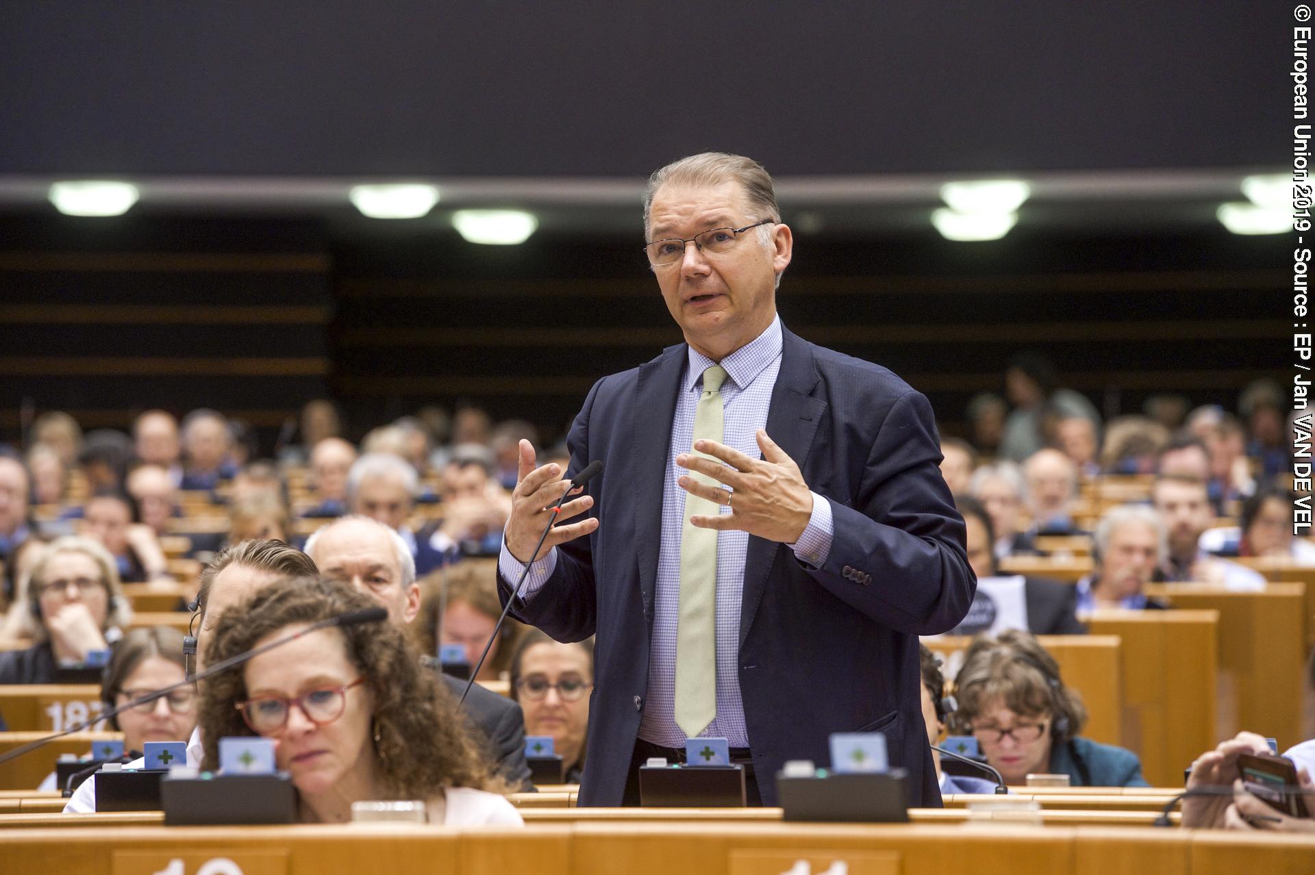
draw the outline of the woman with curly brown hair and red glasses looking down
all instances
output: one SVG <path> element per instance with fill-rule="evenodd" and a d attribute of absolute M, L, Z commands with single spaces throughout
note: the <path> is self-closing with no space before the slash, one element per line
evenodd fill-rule
<path fill-rule="evenodd" d="M 351 587 L 284 578 L 220 617 L 206 665 L 330 617 L 375 607 Z M 201 684 L 204 769 L 220 738 L 275 740 L 306 822 L 351 819 L 364 800 L 423 800 L 430 822 L 519 825 L 456 703 L 391 624 L 318 629 Z"/>

